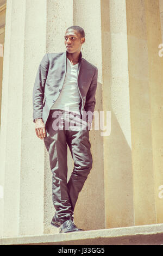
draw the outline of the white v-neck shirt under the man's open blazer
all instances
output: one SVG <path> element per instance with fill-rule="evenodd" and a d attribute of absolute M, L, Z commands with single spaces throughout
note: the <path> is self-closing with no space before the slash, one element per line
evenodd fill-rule
<path fill-rule="evenodd" d="M 72 65 L 67 58 L 65 82 L 58 99 L 54 102 L 51 109 L 67 110 L 80 115 L 79 103 L 81 98 L 77 86 L 78 64 Z"/>

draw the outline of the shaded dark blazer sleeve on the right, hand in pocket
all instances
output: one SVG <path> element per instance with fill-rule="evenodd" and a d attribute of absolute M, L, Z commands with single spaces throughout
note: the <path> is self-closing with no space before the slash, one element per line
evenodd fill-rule
<path fill-rule="evenodd" d="M 95 105 L 96 105 L 96 99 L 95 99 L 95 95 L 96 95 L 96 89 L 97 89 L 97 78 L 98 78 L 98 69 L 95 69 L 95 74 L 92 77 L 92 81 L 89 87 L 89 90 L 86 94 L 86 101 L 85 101 L 85 111 L 90 111 L 91 112 L 91 120 L 90 122 L 92 122 L 93 120 L 93 112 L 95 109 Z"/>

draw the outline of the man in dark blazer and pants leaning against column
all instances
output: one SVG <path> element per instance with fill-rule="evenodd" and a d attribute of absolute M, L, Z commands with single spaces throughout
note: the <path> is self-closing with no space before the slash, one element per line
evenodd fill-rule
<path fill-rule="evenodd" d="M 33 88 L 35 132 L 45 143 L 52 171 L 55 215 L 51 224 L 60 227 L 60 233 L 82 231 L 73 222 L 73 211 L 92 168 L 89 131 L 96 104 L 98 70 L 82 57 L 84 42 L 83 28 L 67 28 L 66 52 L 45 54 Z M 82 129 L 78 129 L 79 124 Z M 68 183 L 67 144 L 74 161 Z"/>

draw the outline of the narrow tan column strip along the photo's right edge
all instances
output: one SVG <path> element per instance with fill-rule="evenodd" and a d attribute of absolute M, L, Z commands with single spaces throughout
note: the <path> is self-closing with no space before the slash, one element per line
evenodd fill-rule
<path fill-rule="evenodd" d="M 163 223 L 163 58 L 158 54 L 161 44 L 159 0 L 145 1 L 148 43 L 149 92 L 151 100 L 153 170 L 156 205 L 156 223 Z"/>

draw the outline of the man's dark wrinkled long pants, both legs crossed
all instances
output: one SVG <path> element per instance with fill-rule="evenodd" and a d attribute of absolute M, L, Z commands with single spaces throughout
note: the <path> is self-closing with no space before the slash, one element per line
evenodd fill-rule
<path fill-rule="evenodd" d="M 56 129 L 56 125 L 59 129 Z M 78 194 L 92 168 L 89 130 L 86 121 L 83 121 L 79 115 L 75 117 L 74 113 L 68 114 L 60 109 L 51 109 L 46 123 L 46 133 L 44 143 L 52 171 L 52 200 L 55 214 L 62 223 L 73 215 Z M 74 161 L 68 182 L 67 145 Z"/>

